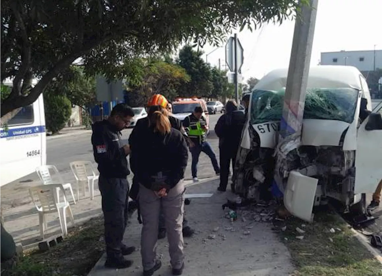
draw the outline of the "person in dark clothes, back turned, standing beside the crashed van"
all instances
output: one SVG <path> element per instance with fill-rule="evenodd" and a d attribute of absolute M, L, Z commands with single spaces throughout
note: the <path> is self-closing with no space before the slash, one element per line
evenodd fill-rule
<path fill-rule="evenodd" d="M 231 161 L 232 169 L 235 167 L 244 121 L 244 114 L 238 110 L 235 100 L 229 100 L 225 106 L 225 114 L 220 116 L 215 126 L 215 133 L 219 137 L 220 185 L 217 189 L 220 192 L 227 189 Z M 235 190 L 232 185 L 231 190 Z"/>

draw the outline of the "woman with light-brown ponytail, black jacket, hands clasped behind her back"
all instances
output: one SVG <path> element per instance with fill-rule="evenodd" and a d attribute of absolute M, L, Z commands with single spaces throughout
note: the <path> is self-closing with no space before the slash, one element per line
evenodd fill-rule
<path fill-rule="evenodd" d="M 171 128 L 168 116 L 161 111 L 149 113 L 149 127 L 137 129 L 131 147 L 131 164 L 139 183 L 139 208 L 142 214 L 141 255 L 143 275 L 151 276 L 161 267 L 156 257 L 159 215 L 163 211 L 168 232 L 173 275 L 184 268 L 182 221 L 183 183 L 188 161 L 186 139 Z"/>

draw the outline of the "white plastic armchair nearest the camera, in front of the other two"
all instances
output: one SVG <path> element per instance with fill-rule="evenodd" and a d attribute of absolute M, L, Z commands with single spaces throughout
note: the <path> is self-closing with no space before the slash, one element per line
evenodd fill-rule
<path fill-rule="evenodd" d="M 56 191 L 61 190 L 64 194 L 64 201 L 61 203 L 57 202 L 57 193 Z M 66 199 L 65 190 L 62 184 L 46 184 L 40 185 L 37 187 L 32 187 L 29 189 L 29 194 L 32 197 L 34 205 L 36 206 L 37 211 L 39 212 L 39 221 L 40 221 L 40 235 L 44 239 L 44 232 L 47 229 L 47 220 L 45 218 L 46 214 L 49 213 L 58 213 L 58 219 L 60 220 L 61 231 L 64 236 L 68 235 L 68 226 L 66 224 L 66 211 L 69 211 L 70 220 L 74 225 L 73 213 L 70 208 L 70 204 Z M 39 203 L 36 200 L 35 195 L 39 199 Z"/>

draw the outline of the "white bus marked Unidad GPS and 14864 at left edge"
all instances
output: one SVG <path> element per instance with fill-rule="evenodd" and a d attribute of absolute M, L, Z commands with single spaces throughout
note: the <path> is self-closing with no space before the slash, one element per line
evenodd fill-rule
<path fill-rule="evenodd" d="M 5 81 L 12 86 L 11 81 Z M 36 81 L 34 82 L 36 84 Z M 46 131 L 42 94 L 0 126 L 0 187 L 46 164 Z"/>

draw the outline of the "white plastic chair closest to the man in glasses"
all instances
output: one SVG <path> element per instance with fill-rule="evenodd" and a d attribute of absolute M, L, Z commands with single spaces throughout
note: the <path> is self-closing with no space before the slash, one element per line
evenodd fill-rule
<path fill-rule="evenodd" d="M 88 167 L 91 175 L 87 174 Z M 70 163 L 70 168 L 73 171 L 77 180 L 78 187 L 81 187 L 82 193 L 86 196 L 86 184 L 89 187 L 90 199 L 94 199 L 94 182 L 99 179 L 99 175 L 95 173 L 95 169 L 90 161 L 74 161 Z M 77 200 L 79 200 L 79 190 L 77 190 Z"/>

